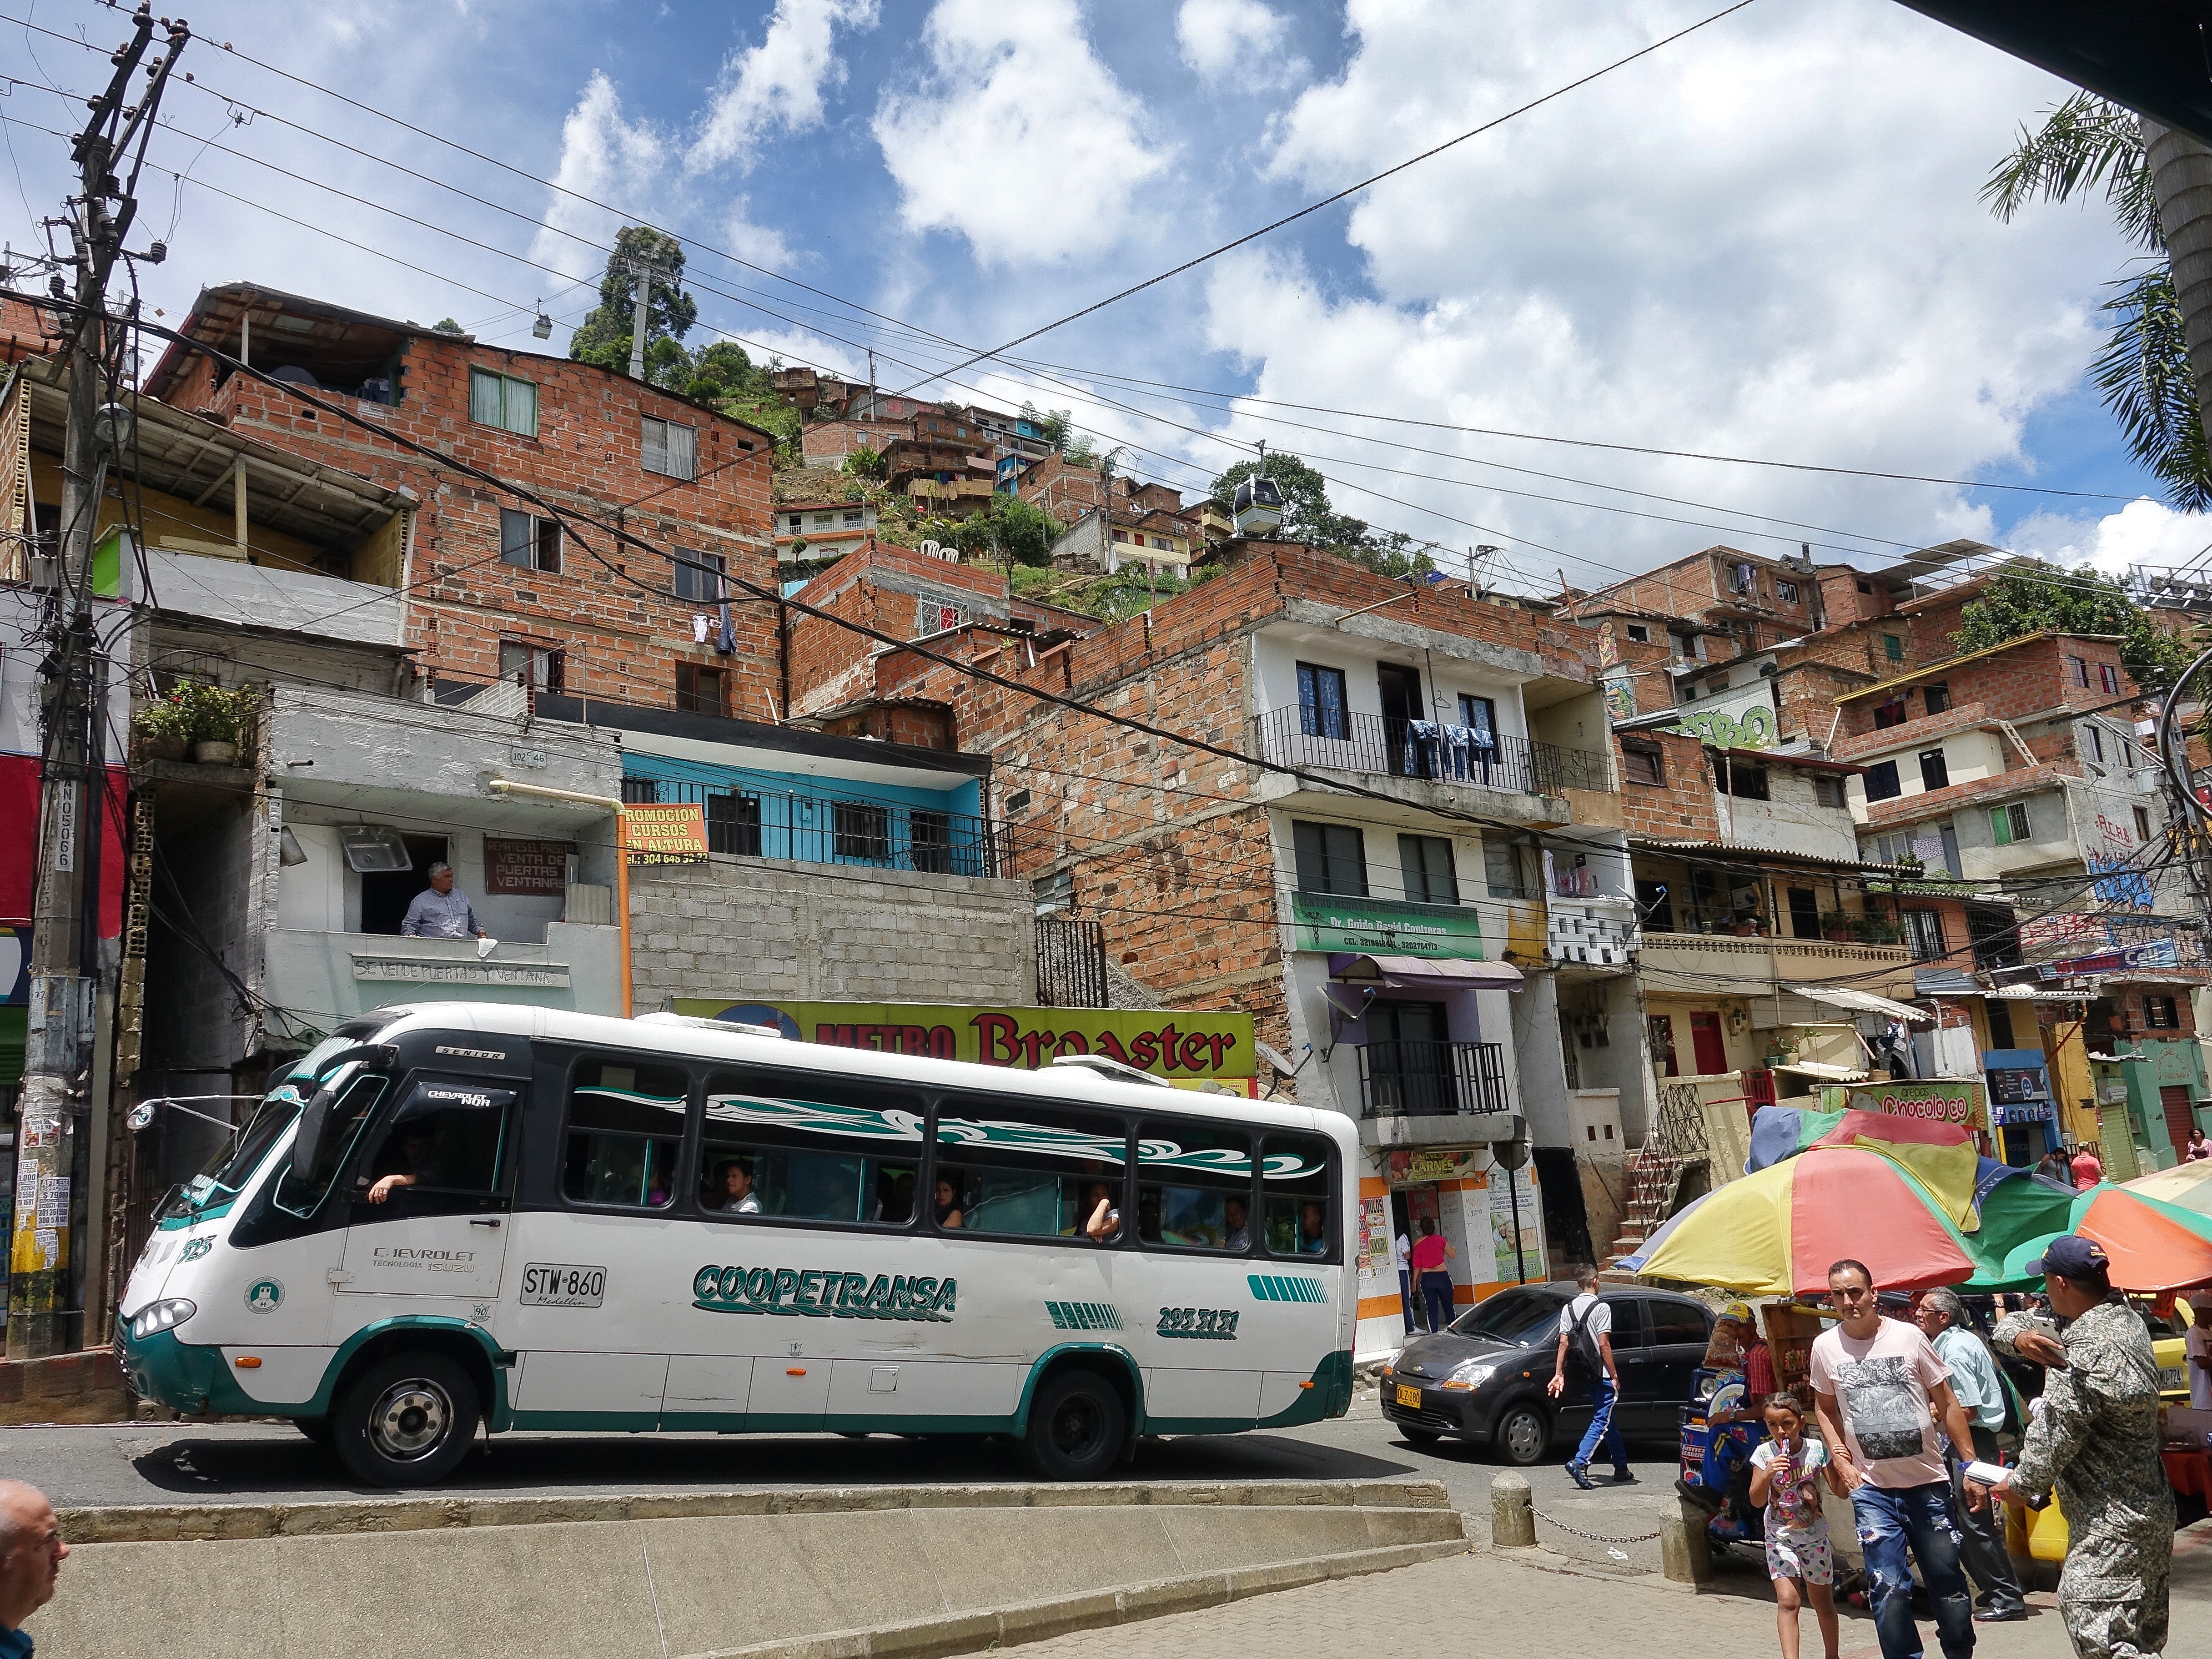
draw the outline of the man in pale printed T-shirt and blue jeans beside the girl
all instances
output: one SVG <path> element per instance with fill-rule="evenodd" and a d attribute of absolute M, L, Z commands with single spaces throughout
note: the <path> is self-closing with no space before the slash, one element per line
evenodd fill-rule
<path fill-rule="evenodd" d="M 1920 1659 L 1907 1548 L 1920 1562 L 1944 1659 L 1966 1659 L 1975 1613 L 1936 1418 L 1955 1447 L 1973 1444 L 1973 1425 L 1933 1343 L 1918 1325 L 1882 1318 L 1865 1263 L 1829 1267 L 1827 1296 L 1843 1323 L 1814 1338 L 1812 1396 L 1829 1467 L 1851 1493 L 1882 1659 Z"/>

